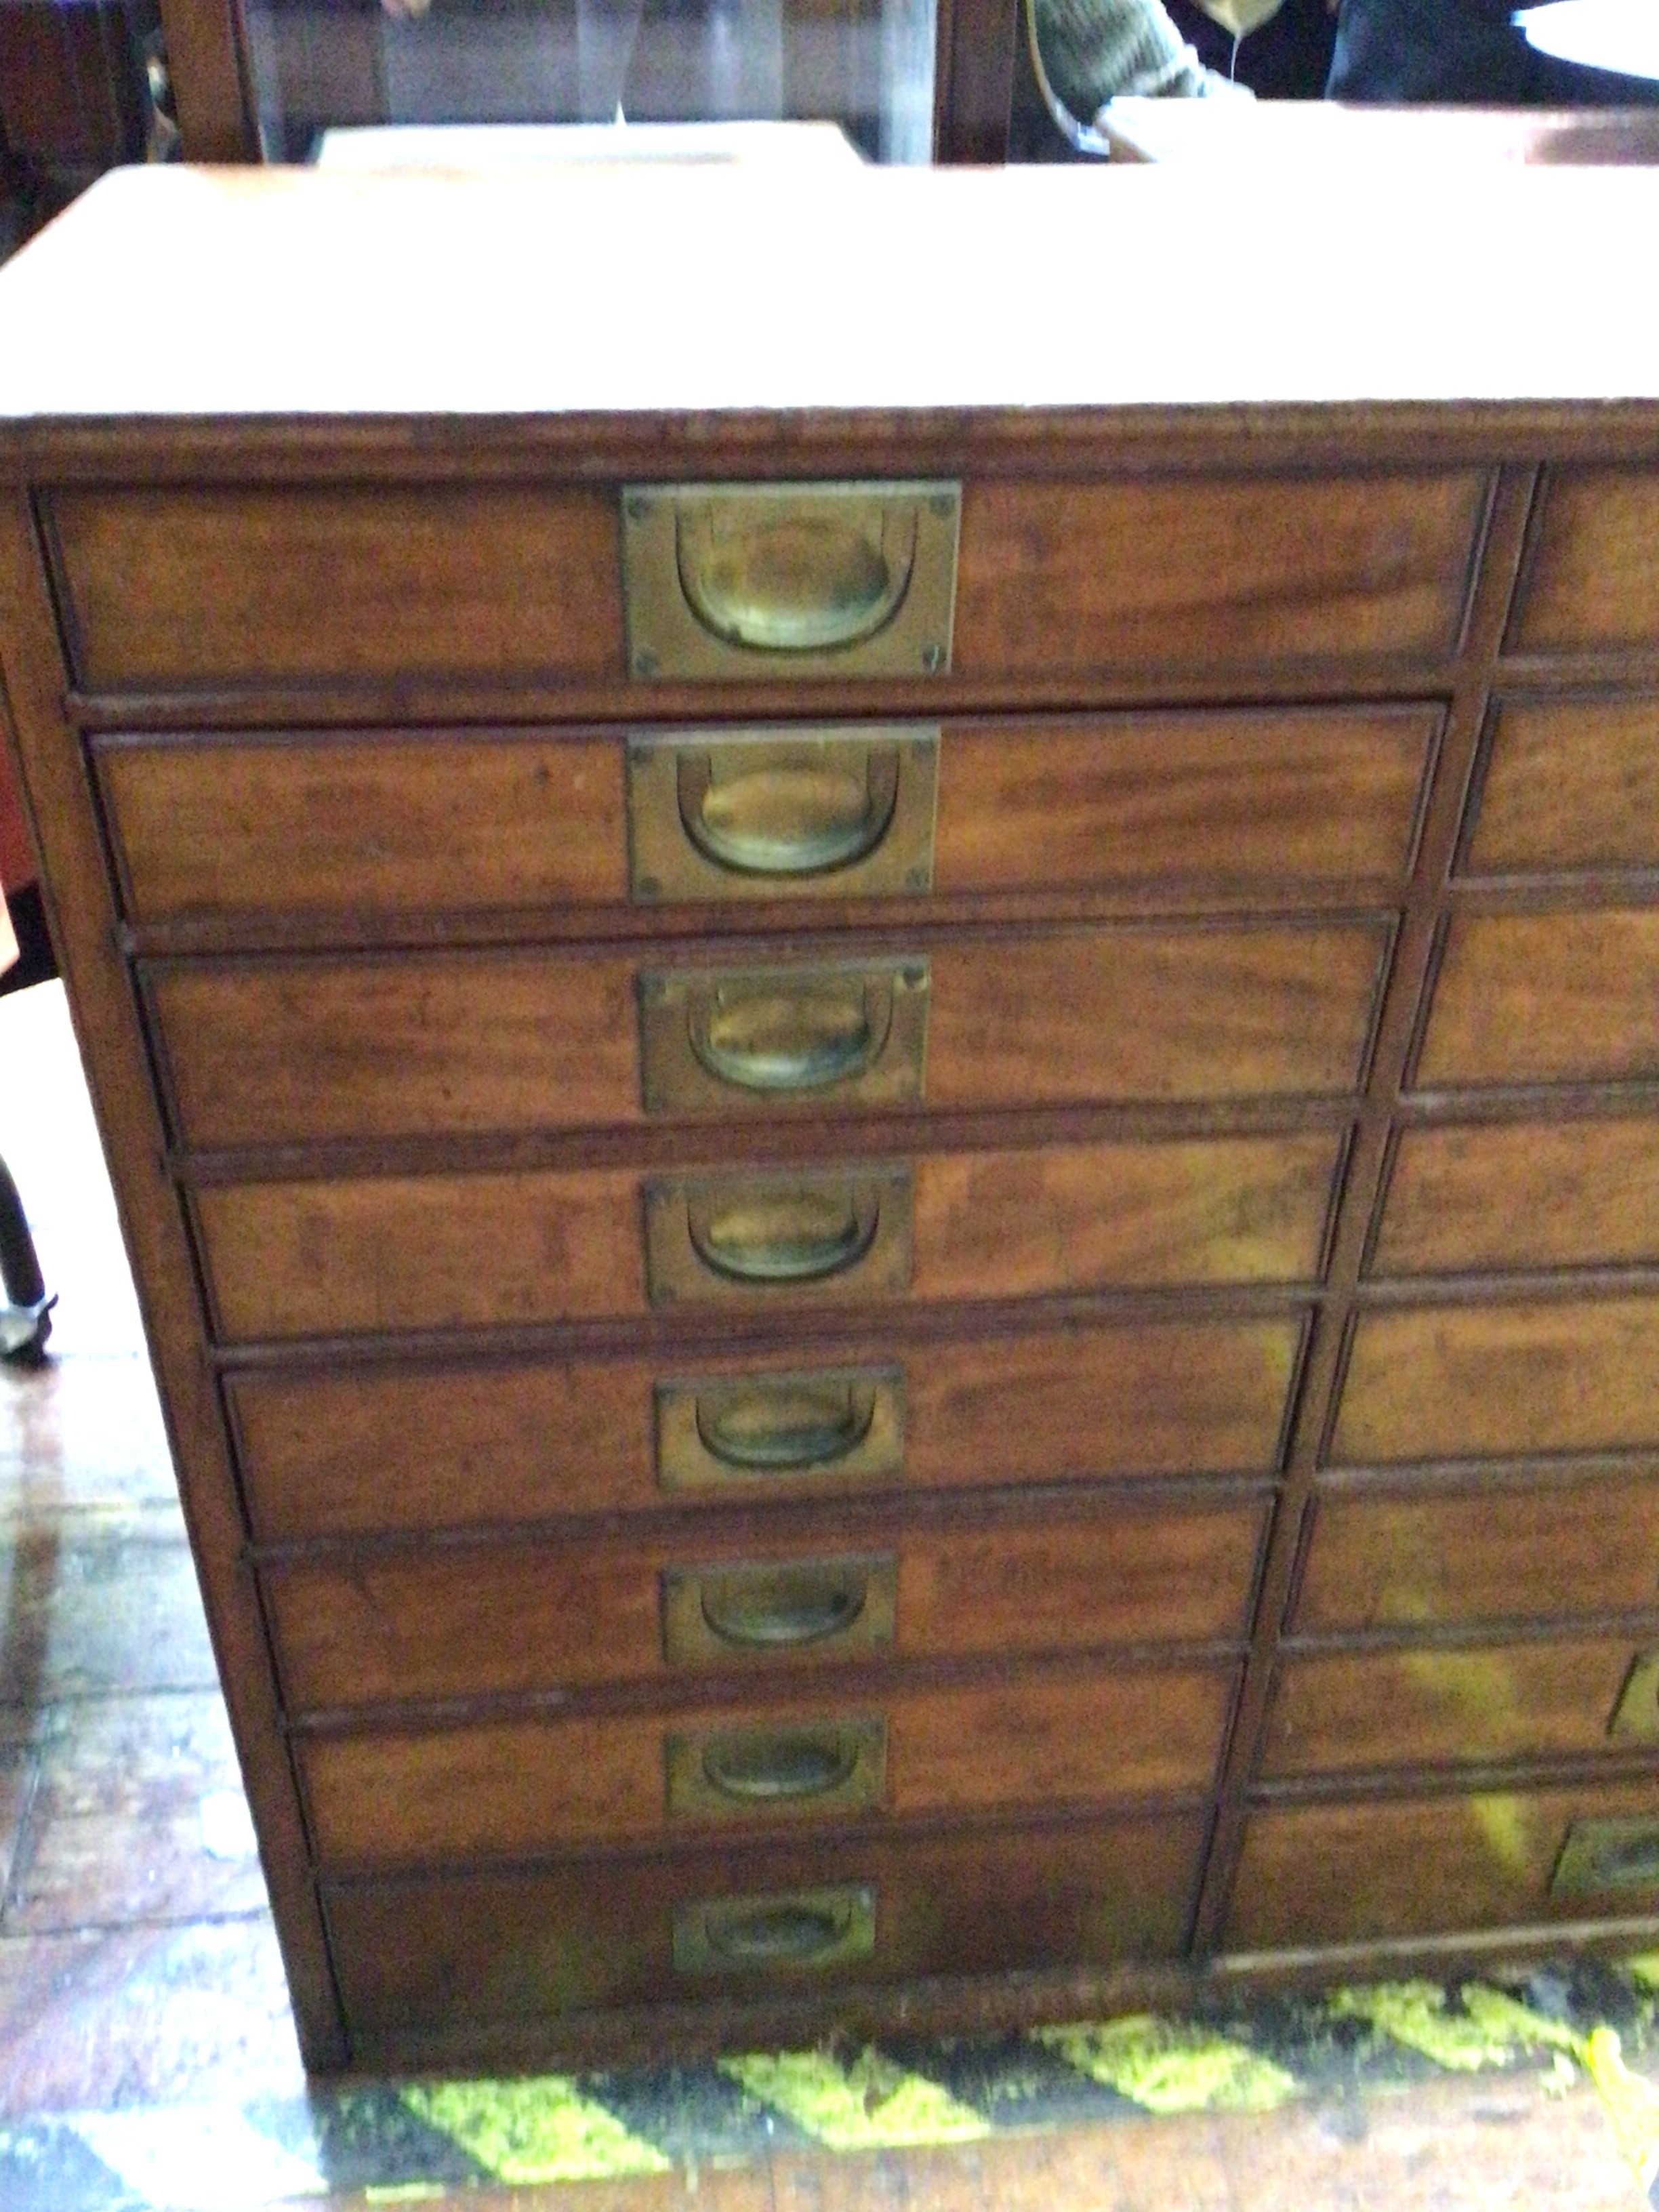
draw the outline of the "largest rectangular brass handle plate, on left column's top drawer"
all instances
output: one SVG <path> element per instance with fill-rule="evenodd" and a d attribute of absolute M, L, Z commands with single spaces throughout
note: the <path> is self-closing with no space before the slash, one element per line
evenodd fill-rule
<path fill-rule="evenodd" d="M 628 675 L 942 675 L 960 524 L 951 482 L 635 484 L 622 493 Z"/>

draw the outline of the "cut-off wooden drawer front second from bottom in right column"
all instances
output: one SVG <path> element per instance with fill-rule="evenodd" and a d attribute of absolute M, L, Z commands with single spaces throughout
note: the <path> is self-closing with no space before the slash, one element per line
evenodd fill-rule
<path fill-rule="evenodd" d="M 1615 1721 L 1644 1666 L 1641 1728 Z M 1659 1730 L 1650 1655 L 1630 1637 L 1482 1644 L 1464 1650 L 1321 1652 L 1287 1659 L 1274 1692 L 1263 1772 L 1498 1759 L 1577 1759 L 1630 1750 Z"/>

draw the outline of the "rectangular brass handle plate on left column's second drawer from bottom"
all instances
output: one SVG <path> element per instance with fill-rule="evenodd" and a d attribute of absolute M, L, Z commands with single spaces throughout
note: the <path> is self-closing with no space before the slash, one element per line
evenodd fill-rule
<path fill-rule="evenodd" d="M 867 1812 L 887 1794 L 887 1723 L 854 1714 L 686 1730 L 664 1741 L 664 1785 L 670 1818 Z"/>

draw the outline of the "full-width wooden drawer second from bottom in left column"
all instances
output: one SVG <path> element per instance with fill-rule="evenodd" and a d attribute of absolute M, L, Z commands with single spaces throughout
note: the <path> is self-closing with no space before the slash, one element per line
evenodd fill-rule
<path fill-rule="evenodd" d="M 312 1834 L 334 1871 L 533 1858 L 708 1829 L 1044 1812 L 1199 1794 L 1225 1666 L 1026 1666 L 1015 1681 L 613 1719 L 473 1721 L 307 1739 Z"/>

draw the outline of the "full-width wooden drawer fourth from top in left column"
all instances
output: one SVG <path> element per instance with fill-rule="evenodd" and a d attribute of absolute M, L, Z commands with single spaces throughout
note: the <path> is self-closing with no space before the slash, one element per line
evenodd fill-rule
<path fill-rule="evenodd" d="M 1338 1139 L 201 1183 L 221 1338 L 1312 1281 Z"/>

